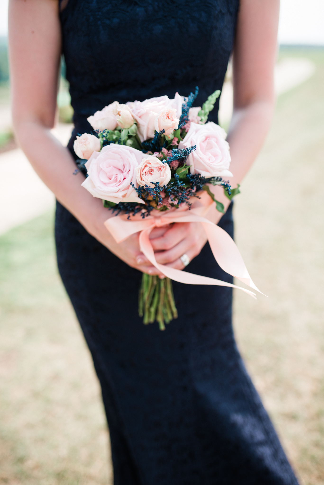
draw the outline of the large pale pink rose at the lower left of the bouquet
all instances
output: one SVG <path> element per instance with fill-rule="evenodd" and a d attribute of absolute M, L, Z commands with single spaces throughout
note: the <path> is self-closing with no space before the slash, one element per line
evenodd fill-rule
<path fill-rule="evenodd" d="M 125 145 L 110 144 L 100 153 L 93 152 L 85 163 L 88 177 L 82 186 L 94 197 L 110 202 L 139 202 L 144 204 L 130 183 L 136 186 L 136 167 L 143 153 Z"/>

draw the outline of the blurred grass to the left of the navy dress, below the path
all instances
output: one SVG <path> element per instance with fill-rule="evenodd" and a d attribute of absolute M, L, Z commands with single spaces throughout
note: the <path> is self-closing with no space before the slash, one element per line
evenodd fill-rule
<path fill-rule="evenodd" d="M 46 214 L 0 237 L 0 483 L 106 484 L 100 389 L 52 226 Z"/>

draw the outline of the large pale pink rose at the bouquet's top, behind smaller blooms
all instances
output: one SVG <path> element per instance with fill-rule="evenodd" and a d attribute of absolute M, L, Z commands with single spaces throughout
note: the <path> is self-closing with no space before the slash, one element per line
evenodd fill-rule
<path fill-rule="evenodd" d="M 175 116 L 180 118 L 184 98 L 175 93 L 174 99 L 167 96 L 152 97 L 145 101 L 126 103 L 137 121 L 137 133 L 141 142 L 153 138 L 155 131 L 155 118 L 164 109 L 173 108 Z"/>

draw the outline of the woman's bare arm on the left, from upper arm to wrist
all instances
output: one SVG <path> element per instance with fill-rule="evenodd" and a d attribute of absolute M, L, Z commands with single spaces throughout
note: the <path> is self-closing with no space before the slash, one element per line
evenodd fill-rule
<path fill-rule="evenodd" d="M 108 249 L 130 266 L 140 268 L 138 235 L 117 244 L 104 227 L 111 217 L 102 201 L 81 183 L 81 173 L 50 130 L 54 125 L 61 26 L 58 0 L 10 0 L 9 55 L 12 110 L 17 141 L 39 177 L 63 204 Z M 144 270 L 150 270 L 145 266 Z"/>

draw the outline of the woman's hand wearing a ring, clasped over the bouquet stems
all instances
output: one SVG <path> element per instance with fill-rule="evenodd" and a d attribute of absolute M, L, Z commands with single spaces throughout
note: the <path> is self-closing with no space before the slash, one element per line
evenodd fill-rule
<path fill-rule="evenodd" d="M 162 234 L 160 229 L 164 229 Z M 185 265 L 180 259 L 181 256 L 187 254 L 190 261 L 198 256 L 205 246 L 207 237 L 200 223 L 186 222 L 153 229 L 150 240 L 158 263 L 183 270 Z M 143 254 L 138 255 L 136 263 L 137 269 L 144 273 L 161 275 Z"/>

